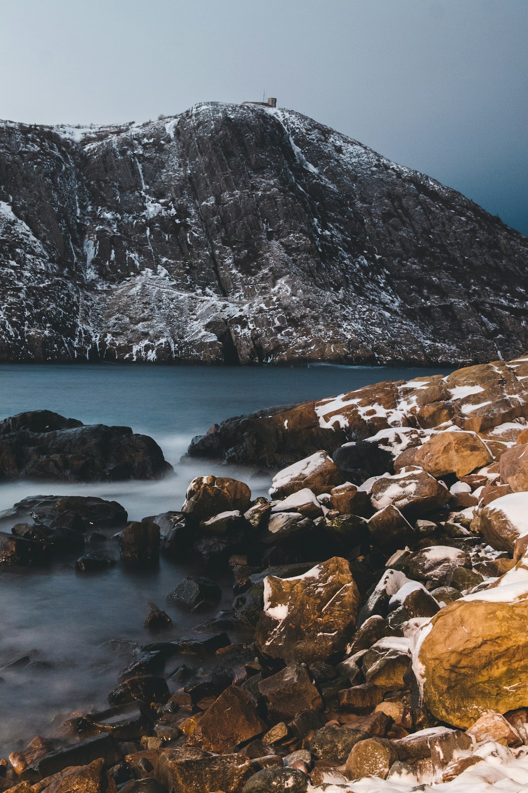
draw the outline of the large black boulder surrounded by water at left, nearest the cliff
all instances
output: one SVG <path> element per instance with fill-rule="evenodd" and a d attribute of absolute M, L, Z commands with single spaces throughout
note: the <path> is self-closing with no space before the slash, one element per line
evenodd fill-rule
<path fill-rule="evenodd" d="M 158 479 L 172 470 L 158 444 L 130 427 L 84 425 L 50 411 L 0 422 L 0 478 L 117 481 Z"/>

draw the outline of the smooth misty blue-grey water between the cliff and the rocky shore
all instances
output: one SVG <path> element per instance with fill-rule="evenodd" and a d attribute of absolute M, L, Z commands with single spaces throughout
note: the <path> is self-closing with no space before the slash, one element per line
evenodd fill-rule
<path fill-rule="evenodd" d="M 431 374 L 440 370 L 309 366 L 303 368 L 226 368 L 119 366 L 112 364 L 0 365 L 0 418 L 47 408 L 84 423 L 127 425 L 158 441 L 176 477 L 160 482 L 13 482 L 0 485 L 0 511 L 38 493 L 77 494 L 115 499 L 131 519 L 180 509 L 192 477 L 222 473 L 244 479 L 253 495 L 264 495 L 270 477 L 251 469 L 211 461 L 180 461 L 193 435 L 211 423 L 276 404 L 328 397 L 368 383 Z M 116 546 L 111 555 L 118 556 Z M 106 552 L 106 550 L 104 551 Z M 51 718 L 71 711 L 105 707 L 123 658 L 100 649 L 112 638 L 153 641 L 143 628 L 146 604 L 154 601 L 173 618 L 167 638 L 187 633 L 233 600 L 229 582 L 218 580 L 223 600 L 200 615 L 165 604 L 166 594 L 188 564 L 161 559 L 159 568 L 132 573 L 116 565 L 104 573 L 82 574 L 74 556 L 46 569 L 0 568 L 0 667 L 25 655 L 48 661 L 0 672 L 0 757 L 36 734 L 50 732 Z M 200 571 L 203 572 L 203 571 Z"/>

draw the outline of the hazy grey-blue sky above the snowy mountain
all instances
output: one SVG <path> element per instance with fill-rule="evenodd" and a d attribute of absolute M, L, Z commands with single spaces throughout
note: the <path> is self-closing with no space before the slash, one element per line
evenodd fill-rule
<path fill-rule="evenodd" d="M 266 89 L 528 232 L 525 0 L 0 0 L 0 117 L 146 121 Z"/>

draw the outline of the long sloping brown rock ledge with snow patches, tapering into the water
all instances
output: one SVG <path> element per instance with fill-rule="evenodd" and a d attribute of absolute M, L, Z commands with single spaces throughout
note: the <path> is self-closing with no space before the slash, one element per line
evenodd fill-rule
<path fill-rule="evenodd" d="M 410 449 L 416 458 L 414 446 L 427 441 L 427 431 L 443 425 L 443 429 L 452 426 L 468 431 L 471 448 L 463 447 L 468 437 L 462 433 L 460 439 L 450 438 L 453 432 L 439 433 L 427 444 L 431 443 L 429 448 L 433 450 L 443 439 L 456 442 L 456 449 L 444 450 L 444 462 L 447 464 L 449 458 L 447 469 L 456 467 L 457 472 L 462 469 L 467 473 L 491 459 L 484 443 L 473 433 L 486 435 L 486 443 L 496 444 L 501 436 L 494 431 L 501 424 L 517 419 L 526 423 L 527 382 L 525 356 L 511 362 L 468 366 L 446 377 L 435 374 L 408 382 L 366 385 L 339 397 L 227 419 L 207 435 L 193 439 L 188 452 L 196 457 L 275 467 L 326 450 L 341 469 L 343 481 L 356 473 L 357 480 L 351 481 L 361 484 L 367 476 L 385 473 L 390 461 L 401 452 Z M 363 443 L 366 439 L 370 442 Z M 353 454 L 355 459 L 350 462 L 351 448 L 361 444 L 361 454 Z M 419 448 L 424 454 L 427 451 L 425 444 Z M 380 450 L 385 454 L 379 454 Z M 405 463 L 411 464 L 422 465 L 416 459 Z"/>

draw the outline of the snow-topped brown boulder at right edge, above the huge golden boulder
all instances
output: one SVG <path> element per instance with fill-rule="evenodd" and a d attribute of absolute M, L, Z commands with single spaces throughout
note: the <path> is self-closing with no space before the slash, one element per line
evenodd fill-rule
<path fill-rule="evenodd" d="M 528 534 L 528 492 L 497 498 L 484 507 L 474 520 L 492 548 L 513 553 L 515 543 Z"/>

